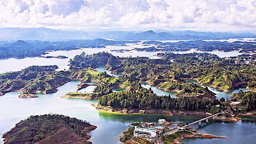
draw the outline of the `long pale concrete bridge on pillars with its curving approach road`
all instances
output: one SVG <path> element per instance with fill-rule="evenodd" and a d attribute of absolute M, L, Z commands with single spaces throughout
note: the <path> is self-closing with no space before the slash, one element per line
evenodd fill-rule
<path fill-rule="evenodd" d="M 164 134 L 162 134 L 162 135 L 159 136 L 159 143 L 160 143 L 160 144 L 164 144 L 164 141 L 162 140 L 162 136 L 166 136 L 166 135 L 168 135 L 168 134 L 175 133 L 175 132 L 178 131 L 179 129 L 184 129 L 184 128 L 187 127 L 187 126 L 193 127 L 194 124 L 196 124 L 196 123 L 199 123 L 199 125 L 201 125 L 201 122 L 202 122 L 202 121 L 206 120 L 206 122 L 208 122 L 210 118 L 215 119 L 215 116 L 217 116 L 217 115 L 219 115 L 219 114 L 223 114 L 223 113 L 224 113 L 224 112 L 219 112 L 219 113 L 217 113 L 217 114 L 213 114 L 213 115 L 211 115 L 211 116 L 208 116 L 208 117 L 206 117 L 206 118 L 204 118 L 204 119 L 200 119 L 200 120 L 198 120 L 198 121 L 194 121 L 194 122 L 192 122 L 192 123 L 190 123 L 190 124 L 187 124 L 187 125 L 185 125 L 185 126 L 177 127 L 176 129 L 172 129 L 172 130 L 170 130 L 170 131 L 167 131 L 167 132 L 165 132 Z"/>

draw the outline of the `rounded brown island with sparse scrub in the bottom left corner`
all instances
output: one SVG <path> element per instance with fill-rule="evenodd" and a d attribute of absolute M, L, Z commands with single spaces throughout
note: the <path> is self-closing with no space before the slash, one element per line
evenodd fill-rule
<path fill-rule="evenodd" d="M 44 114 L 20 121 L 3 138 L 4 144 L 91 144 L 86 132 L 96 128 L 69 116 Z"/>

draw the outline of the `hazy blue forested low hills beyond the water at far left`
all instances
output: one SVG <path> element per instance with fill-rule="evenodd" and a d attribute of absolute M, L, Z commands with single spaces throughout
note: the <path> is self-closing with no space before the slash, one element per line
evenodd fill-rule
<path fill-rule="evenodd" d="M 0 59 L 36 57 L 47 51 L 70 51 L 78 48 L 104 48 L 106 45 L 125 46 L 125 43 L 137 41 L 113 41 L 105 39 L 95 40 L 69 40 L 69 41 L 40 41 L 17 40 L 14 43 L 0 43 Z"/>

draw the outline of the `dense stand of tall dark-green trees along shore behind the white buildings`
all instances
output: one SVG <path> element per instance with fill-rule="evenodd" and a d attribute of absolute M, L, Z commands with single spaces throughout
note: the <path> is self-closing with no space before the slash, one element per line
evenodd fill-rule
<path fill-rule="evenodd" d="M 133 91 L 110 93 L 99 98 L 102 106 L 125 109 L 167 109 L 167 110 L 210 110 L 220 104 L 217 99 L 171 98 L 170 96 L 157 96 L 151 88 L 146 89 L 138 83 Z"/>

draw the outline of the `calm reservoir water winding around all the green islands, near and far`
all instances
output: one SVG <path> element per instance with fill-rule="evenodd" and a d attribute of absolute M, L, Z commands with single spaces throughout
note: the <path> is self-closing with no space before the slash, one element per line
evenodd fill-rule
<path fill-rule="evenodd" d="M 108 51 L 114 56 L 148 56 L 149 58 L 158 58 L 153 56 L 157 52 L 138 52 L 130 51 L 124 53 L 111 52 L 113 49 L 133 49 L 133 48 L 143 48 L 141 44 L 128 44 L 127 47 L 118 46 L 107 46 L 106 48 L 83 48 L 73 51 L 54 51 L 50 52 L 45 56 L 67 56 L 66 59 L 57 58 L 23 58 L 23 59 L 5 59 L 0 60 L 0 73 L 6 71 L 20 71 L 23 68 L 32 65 L 57 65 L 60 70 L 64 68 L 68 69 L 69 58 L 73 58 L 77 54 L 85 52 L 86 54 L 97 53 L 100 51 Z M 193 53 L 196 50 L 190 50 L 186 52 L 175 52 L 175 53 Z M 218 56 L 237 56 L 240 53 L 233 52 L 213 52 Z M 102 68 L 98 68 L 98 71 L 105 71 Z M 107 73 L 109 73 L 107 71 Z M 109 73 L 112 76 L 118 76 Z M 57 93 L 49 93 L 47 95 L 38 94 L 39 98 L 34 99 L 18 99 L 19 91 L 14 91 L 7 93 L 4 96 L 0 96 L 0 135 L 9 131 L 15 126 L 19 121 L 28 118 L 31 115 L 40 114 L 63 114 L 71 117 L 76 117 L 78 119 L 83 119 L 90 121 L 91 124 L 98 126 L 94 131 L 88 134 L 92 135 L 90 141 L 94 144 L 123 144 L 119 141 L 119 136 L 122 132 L 128 128 L 129 124 L 136 121 L 157 121 L 159 118 L 167 119 L 168 121 L 184 121 L 189 123 L 196 121 L 204 116 L 167 116 L 160 114 L 118 114 L 110 113 L 101 110 L 96 110 L 91 104 L 97 103 L 97 100 L 80 100 L 80 99 L 64 99 L 60 96 L 68 93 L 69 91 L 76 91 L 77 84 L 79 81 L 71 81 L 63 86 L 58 87 L 59 91 Z M 171 95 L 175 97 L 173 92 L 166 92 L 159 90 L 154 86 L 149 86 L 146 83 L 141 83 L 145 88 L 152 88 L 154 93 L 159 96 Z M 94 86 L 88 86 L 80 90 L 80 92 L 91 92 Z M 210 88 L 211 91 L 217 93 L 217 97 L 225 97 L 225 99 L 230 98 L 231 93 L 223 93 L 217 91 L 217 89 Z M 235 90 L 232 93 L 237 93 L 240 89 Z M 246 88 L 241 89 L 246 91 Z M 185 144 L 255 144 L 256 136 L 256 118 L 246 117 L 246 121 L 239 121 L 237 123 L 222 123 L 219 121 L 209 121 L 209 124 L 202 122 L 202 126 L 198 129 L 199 132 L 209 133 L 221 136 L 228 136 L 228 139 L 184 139 L 182 142 Z M 195 126 L 196 127 L 196 126 Z M 3 144 L 3 141 L 0 141 Z"/>

